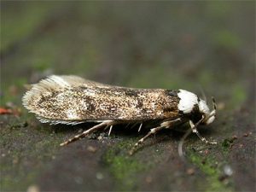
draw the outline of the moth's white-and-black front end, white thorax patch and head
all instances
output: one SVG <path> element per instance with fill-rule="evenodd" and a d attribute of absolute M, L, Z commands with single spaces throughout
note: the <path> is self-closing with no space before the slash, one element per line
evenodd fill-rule
<path fill-rule="evenodd" d="M 184 115 L 189 116 L 195 121 L 201 120 L 201 124 L 209 125 L 215 119 L 216 103 L 212 97 L 212 111 L 207 102 L 187 90 L 179 90 L 177 96 L 180 98 L 177 108 Z"/>

